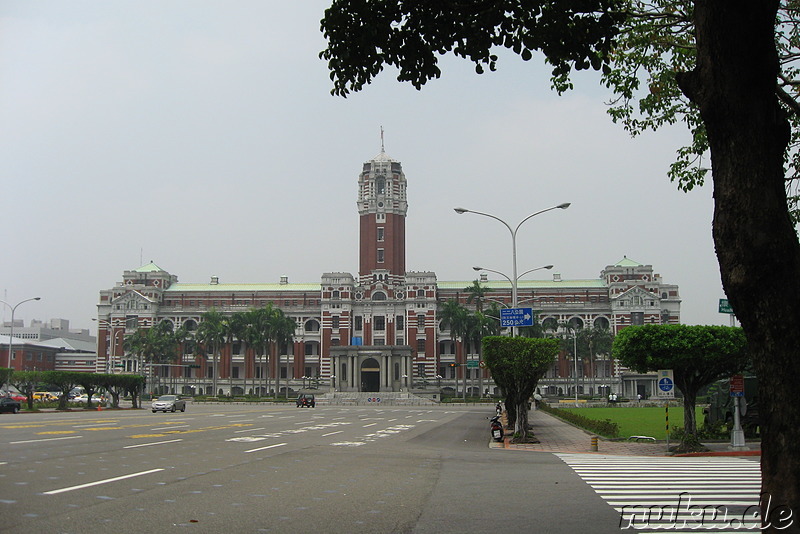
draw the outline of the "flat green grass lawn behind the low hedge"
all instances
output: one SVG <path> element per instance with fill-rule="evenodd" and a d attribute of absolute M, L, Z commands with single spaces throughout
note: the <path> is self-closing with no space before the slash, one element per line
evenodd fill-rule
<path fill-rule="evenodd" d="M 559 408 L 577 413 L 590 419 L 603 421 L 610 419 L 619 425 L 619 436 L 650 436 L 656 439 L 666 439 L 666 413 L 664 408 Z M 703 409 L 696 408 L 695 417 L 697 424 L 703 424 Z M 683 406 L 670 406 L 669 428 L 670 432 L 676 426 L 683 426 Z"/>

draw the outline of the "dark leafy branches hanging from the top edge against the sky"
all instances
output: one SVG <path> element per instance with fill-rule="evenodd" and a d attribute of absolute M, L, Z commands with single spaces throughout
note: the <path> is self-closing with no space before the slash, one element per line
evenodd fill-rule
<path fill-rule="evenodd" d="M 385 65 L 399 81 L 417 89 L 441 71 L 438 56 L 452 52 L 475 64 L 476 72 L 497 67 L 493 49 L 505 47 L 523 60 L 542 51 L 560 90 L 569 74 L 608 67 L 608 54 L 624 16 L 620 0 L 484 2 L 461 0 L 334 0 L 321 30 L 328 48 L 333 94 L 346 96 L 369 84 Z"/>

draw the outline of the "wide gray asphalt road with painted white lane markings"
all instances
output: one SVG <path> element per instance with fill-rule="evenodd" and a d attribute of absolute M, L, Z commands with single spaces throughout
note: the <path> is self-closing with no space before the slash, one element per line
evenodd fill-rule
<path fill-rule="evenodd" d="M 619 532 L 485 407 L 192 405 L 0 416 L 3 532 Z"/>

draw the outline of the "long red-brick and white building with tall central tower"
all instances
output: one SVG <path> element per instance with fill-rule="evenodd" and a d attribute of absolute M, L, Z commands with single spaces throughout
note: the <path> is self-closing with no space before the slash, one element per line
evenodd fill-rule
<path fill-rule="evenodd" d="M 124 336 L 160 321 L 194 330 L 202 314 L 224 314 L 272 304 L 297 322 L 293 343 L 279 348 L 267 375 L 245 343 L 234 340 L 222 350 L 217 369 L 210 358 L 194 354 L 191 345 L 175 364 L 160 368 L 159 381 L 182 393 L 258 393 L 279 376 L 294 389 L 309 383 L 337 391 L 382 392 L 440 387 L 455 392 L 493 388 L 488 373 L 465 361 L 477 360 L 477 347 L 460 350 L 440 328 L 439 305 L 455 299 L 467 303 L 472 280 L 441 281 L 435 272 L 406 271 L 405 219 L 407 183 L 400 162 L 383 150 L 364 163 L 358 176 L 359 272 L 322 273 L 320 281 L 290 283 L 181 283 L 155 263 L 125 271 L 115 287 L 100 292 L 98 304 L 98 371 L 110 368 L 139 372 L 139 362 L 124 350 Z M 510 283 L 483 277 L 491 299 L 509 306 Z M 544 324 L 601 326 L 618 332 L 636 324 L 677 324 L 680 297 L 652 266 L 627 257 L 602 268 L 598 278 L 520 280 L 518 302 L 536 310 Z M 477 361 L 474 361 L 477 364 Z M 458 364 L 458 365 L 451 365 Z M 465 376 L 466 375 L 466 376 Z M 590 376 L 591 375 L 591 376 Z M 580 392 L 602 393 L 602 387 L 633 395 L 652 388 L 652 377 L 632 377 L 608 356 L 586 369 L 579 365 Z M 641 384 L 636 382 L 641 380 Z M 574 361 L 554 362 L 540 386 L 568 395 L 575 388 Z M 646 385 L 646 386 L 645 386 Z M 652 391 L 652 389 L 650 390 Z"/>

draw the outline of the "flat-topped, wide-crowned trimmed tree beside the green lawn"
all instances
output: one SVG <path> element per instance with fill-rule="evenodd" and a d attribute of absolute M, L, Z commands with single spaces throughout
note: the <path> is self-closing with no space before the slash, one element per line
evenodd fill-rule
<path fill-rule="evenodd" d="M 695 406 L 700 388 L 742 371 L 750 361 L 744 331 L 729 326 L 629 326 L 614 339 L 613 354 L 639 373 L 673 370 L 675 386 L 683 393 L 685 432 L 679 451 L 699 445 Z"/>

